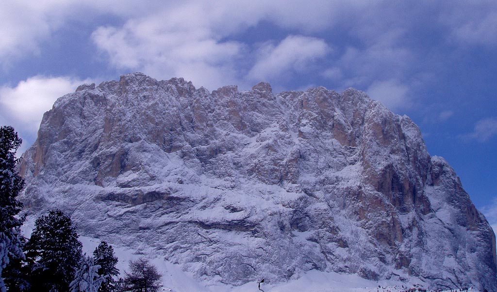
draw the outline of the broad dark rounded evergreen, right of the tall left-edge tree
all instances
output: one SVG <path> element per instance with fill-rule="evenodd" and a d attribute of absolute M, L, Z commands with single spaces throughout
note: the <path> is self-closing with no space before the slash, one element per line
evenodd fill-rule
<path fill-rule="evenodd" d="M 81 259 L 81 249 L 69 215 L 55 209 L 38 218 L 26 244 L 31 290 L 69 291 Z"/>

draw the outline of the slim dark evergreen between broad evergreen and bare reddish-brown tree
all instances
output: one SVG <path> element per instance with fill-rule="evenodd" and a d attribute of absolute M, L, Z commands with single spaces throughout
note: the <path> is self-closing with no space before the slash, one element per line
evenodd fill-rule
<path fill-rule="evenodd" d="M 112 292 L 116 290 L 116 280 L 114 276 L 119 275 L 116 268 L 117 257 L 114 256 L 114 249 L 107 242 L 102 241 L 93 251 L 95 265 L 99 265 L 98 275 L 105 277 L 104 282 L 98 289 L 99 292 Z"/>

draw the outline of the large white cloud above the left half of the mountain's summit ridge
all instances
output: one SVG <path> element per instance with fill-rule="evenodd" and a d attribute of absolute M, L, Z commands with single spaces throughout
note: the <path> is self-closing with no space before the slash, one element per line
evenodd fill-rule
<path fill-rule="evenodd" d="M 234 62 L 244 46 L 221 41 L 202 14 L 201 5 L 166 10 L 129 20 L 122 28 L 100 27 L 92 39 L 120 69 L 156 78 L 184 77 L 211 89 L 236 83 Z"/>

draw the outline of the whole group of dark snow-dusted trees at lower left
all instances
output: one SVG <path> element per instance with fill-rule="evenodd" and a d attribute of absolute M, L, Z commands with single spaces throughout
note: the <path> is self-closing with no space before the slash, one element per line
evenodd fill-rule
<path fill-rule="evenodd" d="M 16 196 L 24 180 L 15 171 L 21 142 L 12 127 L 0 127 L 0 292 L 157 292 L 162 276 L 147 259 L 130 261 L 118 278 L 111 245 L 102 241 L 83 254 L 71 217 L 60 209 L 36 219 L 29 239 L 21 235 Z"/>

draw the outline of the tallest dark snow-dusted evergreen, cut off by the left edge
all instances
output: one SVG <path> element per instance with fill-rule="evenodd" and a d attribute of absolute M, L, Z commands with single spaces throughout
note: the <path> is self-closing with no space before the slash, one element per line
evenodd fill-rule
<path fill-rule="evenodd" d="M 21 143 L 14 128 L 0 127 L 0 292 L 6 291 L 3 269 L 10 260 L 24 258 L 17 229 L 22 220 L 15 218 L 22 207 L 16 197 L 24 185 L 24 180 L 15 171 L 19 162 L 15 152 Z"/>

